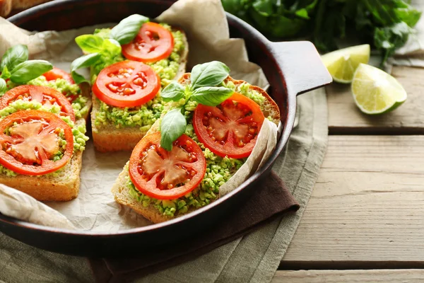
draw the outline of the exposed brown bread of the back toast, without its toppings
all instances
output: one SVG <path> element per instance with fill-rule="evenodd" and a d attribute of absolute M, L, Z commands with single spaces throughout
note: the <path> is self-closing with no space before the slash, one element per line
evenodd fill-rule
<path fill-rule="evenodd" d="M 180 31 L 183 34 L 184 51 L 180 56 L 179 69 L 175 79 L 178 79 L 185 73 L 187 57 L 189 54 L 187 37 L 182 30 Z M 91 127 L 93 129 L 94 146 L 98 151 L 131 151 L 140 139 L 146 135 L 146 132 L 140 131 L 139 126 L 117 128 L 112 124 L 101 126 L 95 125 L 95 118 L 100 110 L 100 100 L 94 95 L 94 93 L 92 95 L 92 102 L 93 110 L 91 111 Z"/>

